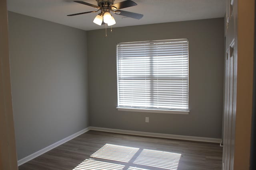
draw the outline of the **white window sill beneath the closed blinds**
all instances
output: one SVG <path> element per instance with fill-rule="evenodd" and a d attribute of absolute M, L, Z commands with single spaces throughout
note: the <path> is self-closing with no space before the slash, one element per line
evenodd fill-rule
<path fill-rule="evenodd" d="M 130 108 L 130 107 L 116 107 L 120 111 L 137 111 L 148 113 L 168 113 L 168 114 L 182 114 L 188 115 L 189 110 L 165 110 L 165 109 L 142 109 L 142 108 Z"/>

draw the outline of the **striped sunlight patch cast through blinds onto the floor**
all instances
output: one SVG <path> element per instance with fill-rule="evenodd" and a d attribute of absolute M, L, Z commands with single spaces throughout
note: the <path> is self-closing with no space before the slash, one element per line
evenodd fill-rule
<path fill-rule="evenodd" d="M 136 153 L 138 156 L 134 157 Z M 174 152 L 150 149 L 139 151 L 139 148 L 105 144 L 91 155 L 96 160 L 93 158 L 86 159 L 73 170 L 124 170 L 124 168 L 125 170 L 150 170 L 152 167 L 178 170 L 181 156 L 181 154 Z M 108 163 L 110 160 L 116 162 Z M 137 166 L 143 168 L 138 168 Z"/>

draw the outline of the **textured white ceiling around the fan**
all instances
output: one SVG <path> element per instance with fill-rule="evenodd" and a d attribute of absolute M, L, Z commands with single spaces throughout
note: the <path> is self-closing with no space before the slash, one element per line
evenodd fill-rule
<path fill-rule="evenodd" d="M 83 0 L 95 4 L 96 0 Z M 115 3 L 123 0 L 115 0 Z M 144 25 L 174 21 L 220 18 L 225 14 L 225 0 L 133 0 L 138 6 L 122 10 L 144 14 L 140 20 L 123 18 L 113 14 L 113 27 Z M 79 12 L 93 11 L 94 8 L 73 2 L 73 0 L 7 0 L 8 10 L 43 20 L 48 20 L 84 30 L 102 29 L 96 25 L 96 13 L 80 16 L 66 16 Z"/>

